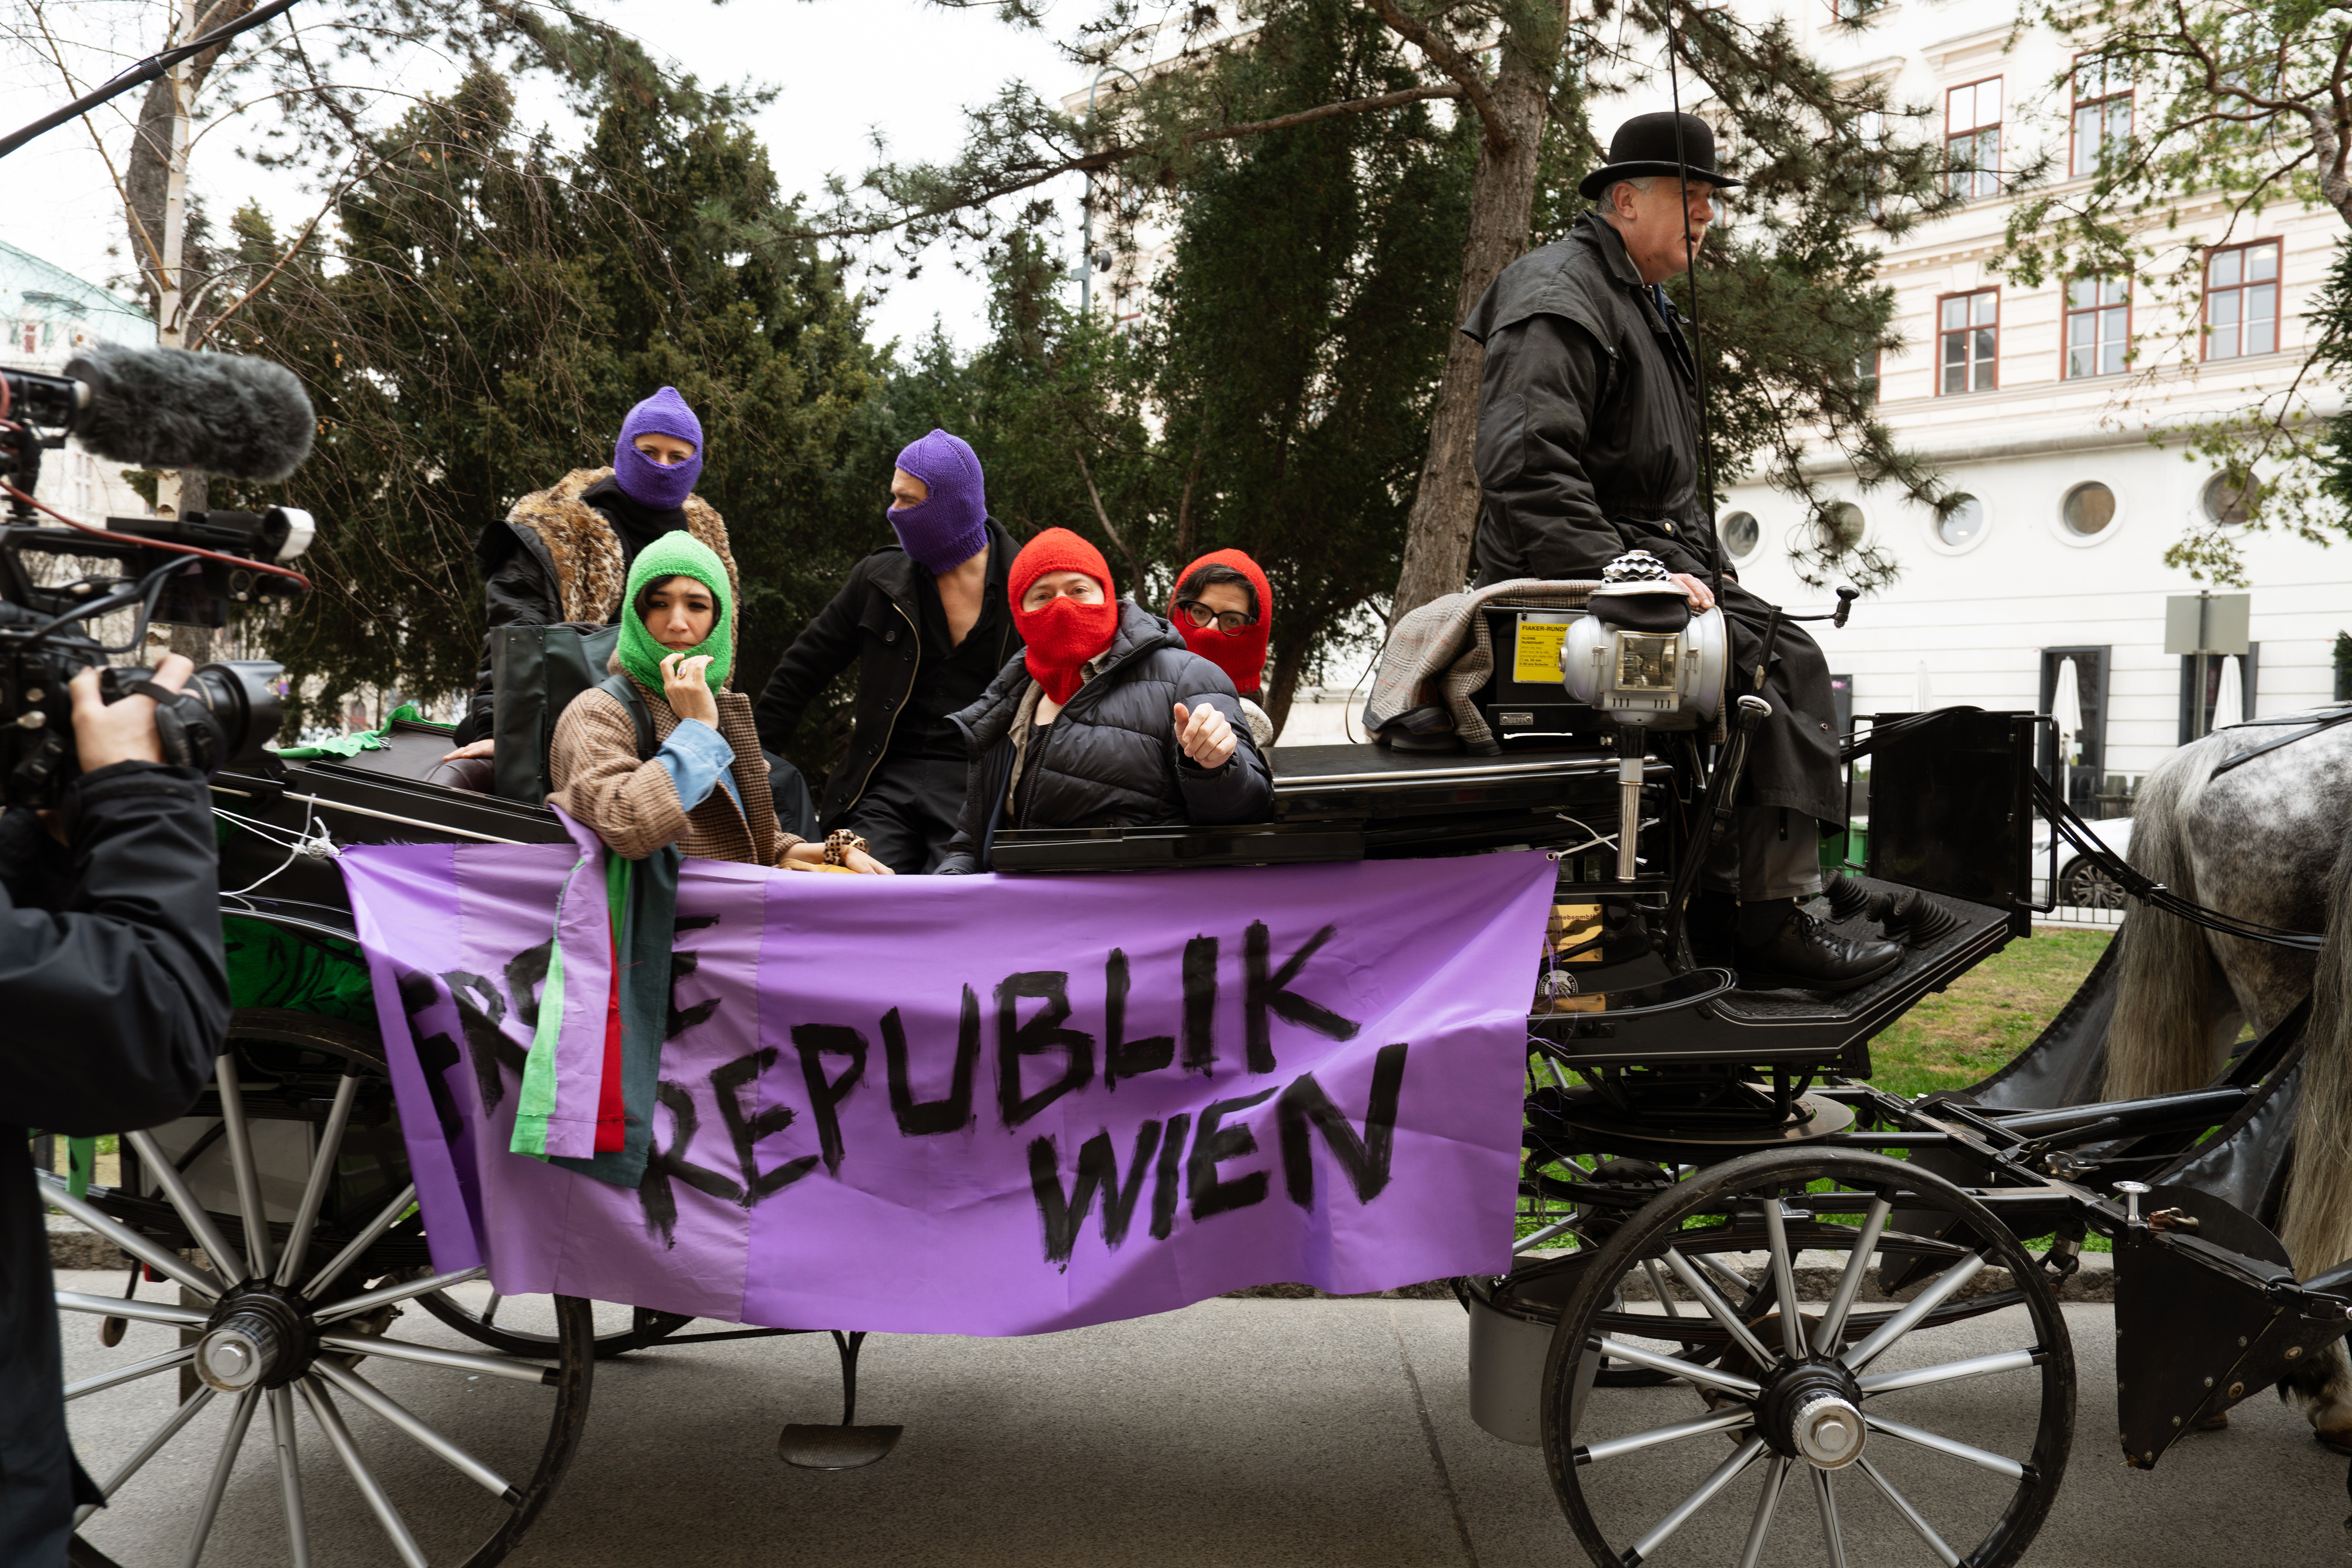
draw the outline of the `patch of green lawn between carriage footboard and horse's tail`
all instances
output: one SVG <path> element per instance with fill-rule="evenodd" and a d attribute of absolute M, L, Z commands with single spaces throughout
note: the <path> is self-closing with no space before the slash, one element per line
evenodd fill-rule
<path fill-rule="evenodd" d="M 1889 1093 L 1922 1095 L 1990 1077 L 2058 1016 L 2112 936 L 2037 931 L 2009 943 L 1872 1039 L 1870 1081 Z"/>

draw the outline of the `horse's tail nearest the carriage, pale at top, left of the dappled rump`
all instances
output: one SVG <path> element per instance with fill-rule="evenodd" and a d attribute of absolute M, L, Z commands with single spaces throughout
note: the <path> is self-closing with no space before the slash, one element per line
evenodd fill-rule
<path fill-rule="evenodd" d="M 2183 745 L 2140 785 L 2131 809 L 2131 865 L 2197 898 L 2187 820 L 2213 776 L 2211 743 Z M 2204 929 L 2131 900 L 2107 1025 L 2107 1100 L 2204 1088 L 2213 1072 L 2213 954 Z"/>

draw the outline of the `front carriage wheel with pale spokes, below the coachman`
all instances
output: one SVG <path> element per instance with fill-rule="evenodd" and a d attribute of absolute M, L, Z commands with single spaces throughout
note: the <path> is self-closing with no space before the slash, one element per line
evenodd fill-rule
<path fill-rule="evenodd" d="M 1891 1232 L 1898 1206 L 1955 1239 Z M 1929 1258 L 1926 1284 L 1863 1302 L 1875 1253 Z M 1987 1265 L 2016 1286 L 1964 1295 Z M 1604 1387 L 1604 1359 L 1672 1382 Z M 1860 1152 L 1748 1154 L 1661 1192 L 1581 1272 L 1543 1373 L 1552 1490 L 1609 1568 L 1903 1561 L 1865 1552 L 1879 1533 L 2002 1568 L 2072 1439 L 2074 1354 L 2039 1262 L 1959 1187 Z"/>

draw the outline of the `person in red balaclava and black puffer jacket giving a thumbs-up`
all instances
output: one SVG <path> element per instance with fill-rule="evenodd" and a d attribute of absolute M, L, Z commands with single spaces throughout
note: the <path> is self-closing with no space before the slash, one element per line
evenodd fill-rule
<path fill-rule="evenodd" d="M 997 827 L 1258 823 L 1275 785 L 1218 665 L 1120 599 L 1103 552 L 1033 538 L 1007 578 L 1023 651 L 950 722 L 964 813 L 938 875 L 983 872 Z"/>

